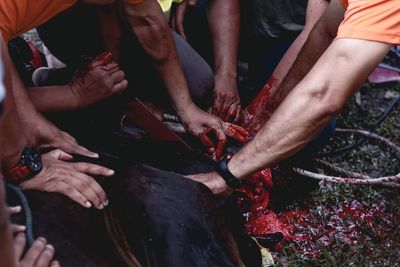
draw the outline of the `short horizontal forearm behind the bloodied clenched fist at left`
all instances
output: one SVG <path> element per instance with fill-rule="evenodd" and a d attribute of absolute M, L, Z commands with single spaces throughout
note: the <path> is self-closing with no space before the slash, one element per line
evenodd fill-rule
<path fill-rule="evenodd" d="M 74 110 L 78 103 L 70 86 L 28 87 L 28 95 L 40 112 Z"/>

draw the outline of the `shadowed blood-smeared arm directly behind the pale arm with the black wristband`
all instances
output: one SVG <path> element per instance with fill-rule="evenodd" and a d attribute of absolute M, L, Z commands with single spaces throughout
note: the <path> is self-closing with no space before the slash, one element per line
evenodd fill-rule
<path fill-rule="evenodd" d="M 314 5 L 316 5 L 316 3 L 314 3 Z M 317 8 L 316 12 L 320 12 L 320 9 L 322 9 L 322 6 L 319 6 L 319 9 Z M 308 12 L 311 11 L 312 10 L 308 10 Z M 308 20 L 308 24 L 311 24 L 314 19 L 316 19 L 314 17 L 315 15 L 316 14 L 313 15 L 312 20 Z M 301 48 L 292 67 L 290 69 L 288 68 L 289 71 L 286 77 L 283 76 L 283 72 L 285 72 L 283 68 L 280 68 L 279 73 L 278 69 L 274 71 L 269 82 L 247 108 L 247 111 L 253 116 L 245 121 L 245 127 L 248 130 L 253 133 L 258 132 L 269 120 L 283 99 L 311 70 L 315 62 L 321 57 L 336 37 L 337 29 L 343 20 L 343 15 L 344 10 L 340 4 L 337 1 L 331 1 L 326 8 L 324 15 L 315 24 L 314 28 L 308 35 L 308 39 Z M 290 49 L 293 49 L 293 47 L 294 46 L 292 45 Z M 284 60 L 282 59 L 279 65 L 285 66 L 290 64 L 290 62 L 283 62 Z M 275 75 L 277 76 L 275 77 Z M 258 101 L 257 98 L 264 95 L 268 96 L 268 101 Z"/>

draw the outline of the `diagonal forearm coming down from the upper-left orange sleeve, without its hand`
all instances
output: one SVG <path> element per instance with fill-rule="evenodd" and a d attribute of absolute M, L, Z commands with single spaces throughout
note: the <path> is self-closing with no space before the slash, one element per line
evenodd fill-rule
<path fill-rule="evenodd" d="M 133 33 L 168 90 L 175 109 L 179 113 L 192 105 L 172 32 L 157 1 L 145 0 L 139 5 L 125 4 L 125 13 Z"/>

